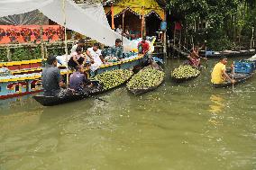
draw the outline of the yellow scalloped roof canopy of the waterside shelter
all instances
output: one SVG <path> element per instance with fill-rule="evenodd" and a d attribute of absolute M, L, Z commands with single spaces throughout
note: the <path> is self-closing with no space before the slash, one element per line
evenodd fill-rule
<path fill-rule="evenodd" d="M 132 13 L 147 17 L 151 13 L 156 13 L 161 20 L 164 20 L 164 10 L 160 8 L 160 5 L 155 0 L 121 0 L 114 4 L 114 17 L 118 17 L 121 13 L 130 10 Z M 105 13 L 110 13 L 111 7 L 105 7 Z"/>

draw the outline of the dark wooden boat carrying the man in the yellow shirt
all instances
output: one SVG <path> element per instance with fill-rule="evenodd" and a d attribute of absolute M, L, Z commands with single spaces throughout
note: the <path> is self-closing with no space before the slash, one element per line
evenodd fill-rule
<path fill-rule="evenodd" d="M 249 79 L 253 74 L 244 74 L 244 73 L 236 73 L 233 76 L 233 79 L 235 80 L 234 85 L 240 84 L 245 82 L 247 79 Z M 227 87 L 227 86 L 232 86 L 233 84 L 229 81 L 224 82 L 224 84 L 219 84 L 219 85 L 213 85 L 215 88 L 221 88 L 221 87 Z"/>

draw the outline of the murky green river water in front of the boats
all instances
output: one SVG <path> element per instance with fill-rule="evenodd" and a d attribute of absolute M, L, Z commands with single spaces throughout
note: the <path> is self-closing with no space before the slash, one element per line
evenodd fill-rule
<path fill-rule="evenodd" d="M 124 87 L 100 95 L 109 103 L 0 101 L 0 169 L 256 169 L 256 77 L 232 95 L 211 87 L 214 63 L 140 97 Z M 169 61 L 167 76 L 177 65 Z"/>

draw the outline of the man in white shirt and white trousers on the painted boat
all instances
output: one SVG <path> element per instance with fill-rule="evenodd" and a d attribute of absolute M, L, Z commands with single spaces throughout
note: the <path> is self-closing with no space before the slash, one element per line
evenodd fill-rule
<path fill-rule="evenodd" d="M 92 71 L 96 71 L 96 69 L 104 63 L 104 59 L 102 58 L 98 43 L 95 43 L 92 48 L 87 49 L 87 56 L 91 58 Z"/>

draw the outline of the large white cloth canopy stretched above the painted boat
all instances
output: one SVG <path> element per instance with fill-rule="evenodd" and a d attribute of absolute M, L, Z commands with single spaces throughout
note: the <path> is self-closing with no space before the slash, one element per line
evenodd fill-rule
<path fill-rule="evenodd" d="M 70 30 L 77 31 L 107 46 L 113 46 L 115 39 L 121 39 L 120 34 L 111 30 L 105 21 L 96 17 L 96 13 L 93 13 L 92 10 L 82 9 L 71 0 L 1 0 L 0 17 L 39 9 L 50 20 L 64 26 L 63 1 L 66 4 L 66 27 Z M 123 38 L 124 45 L 129 42 Z"/>

